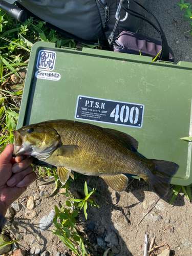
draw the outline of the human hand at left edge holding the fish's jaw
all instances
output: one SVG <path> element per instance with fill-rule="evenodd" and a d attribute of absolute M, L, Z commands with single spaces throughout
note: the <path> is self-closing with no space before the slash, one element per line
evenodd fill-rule
<path fill-rule="evenodd" d="M 8 207 L 36 179 L 32 158 L 24 155 L 13 158 L 13 150 L 14 145 L 10 144 L 0 155 L 0 212 L 4 216 Z"/>

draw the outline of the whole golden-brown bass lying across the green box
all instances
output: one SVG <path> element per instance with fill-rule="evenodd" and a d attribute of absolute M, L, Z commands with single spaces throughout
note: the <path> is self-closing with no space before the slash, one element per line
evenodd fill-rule
<path fill-rule="evenodd" d="M 12 131 L 14 156 L 27 155 L 57 167 L 62 184 L 74 172 L 99 176 L 116 191 L 124 191 L 128 178 L 142 178 L 161 197 L 168 193 L 179 165 L 147 159 L 138 153 L 138 141 L 113 129 L 73 120 L 51 120 Z"/>

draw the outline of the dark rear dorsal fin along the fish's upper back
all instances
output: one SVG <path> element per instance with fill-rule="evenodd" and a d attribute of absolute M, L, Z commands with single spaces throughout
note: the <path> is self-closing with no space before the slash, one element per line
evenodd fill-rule
<path fill-rule="evenodd" d="M 132 136 L 130 136 L 130 135 L 126 134 L 126 133 L 119 132 L 119 131 L 114 130 L 114 129 L 106 129 L 106 130 L 108 130 L 111 133 L 113 133 L 116 136 L 118 136 L 119 139 L 120 139 L 120 142 L 123 143 L 130 150 L 132 150 L 134 152 L 138 150 L 139 142 L 136 139 L 134 139 Z"/>

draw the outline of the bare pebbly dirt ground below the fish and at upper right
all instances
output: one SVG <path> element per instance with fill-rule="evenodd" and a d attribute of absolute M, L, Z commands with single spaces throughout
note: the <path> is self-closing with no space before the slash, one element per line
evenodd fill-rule
<path fill-rule="evenodd" d="M 175 54 L 175 62 L 180 60 L 191 62 L 192 36 L 190 36 L 190 32 L 187 32 L 190 30 L 189 23 L 182 18 L 183 13 L 177 6 L 178 2 L 178 0 L 146 0 L 145 6 L 154 13 L 162 25 L 168 44 Z M 139 32 L 159 38 L 156 31 L 144 22 L 142 22 Z M 168 205 L 172 196 L 160 199 L 143 181 L 130 179 L 127 189 L 122 193 L 117 193 L 109 188 L 102 179 L 86 176 L 78 177 L 71 186 L 71 192 L 77 190 L 83 193 L 84 181 L 87 181 L 90 187 L 95 187 L 105 199 L 96 199 L 100 208 L 88 207 L 88 220 L 85 220 L 83 212 L 80 212 L 77 218 L 77 227 L 85 237 L 89 233 L 88 225 L 94 223 L 95 227 L 91 232 L 95 237 L 99 236 L 98 229 L 102 229 L 103 233 L 114 231 L 117 234 L 119 253 L 116 255 L 118 256 L 143 255 L 145 234 L 148 234 L 148 245 L 155 238 L 153 247 L 159 246 L 150 255 L 158 255 L 166 248 L 170 249 L 170 255 L 192 255 L 191 204 L 184 193 L 180 193 L 174 203 Z M 47 190 L 45 193 L 51 193 L 55 186 L 53 179 L 43 177 L 29 186 L 23 197 L 19 199 L 19 203 L 22 203 L 25 198 L 27 201 L 31 195 L 34 196 L 39 185 L 44 184 L 46 185 L 45 190 Z M 58 206 L 58 203 L 61 203 L 64 206 L 65 200 L 65 196 L 60 193 L 56 197 L 43 197 L 42 201 L 34 208 L 37 217 L 32 220 L 26 219 L 27 209 L 22 207 L 19 212 L 16 212 L 12 231 L 10 232 L 8 229 L 7 233 L 11 238 L 19 238 L 19 247 L 25 248 L 28 254 L 30 254 L 30 249 L 35 246 L 35 248 L 41 248 L 41 251 L 46 248 L 49 253 L 52 253 L 51 255 L 56 255 L 57 252 L 64 254 L 67 251 L 69 254 L 66 255 L 73 255 L 52 233 L 54 225 L 44 232 L 39 231 L 40 219 L 48 215 L 54 209 L 54 205 Z M 31 244 L 32 240 L 34 240 L 33 244 Z M 91 246 L 89 240 L 86 240 L 86 244 L 89 244 L 92 254 L 94 250 L 97 250 L 97 255 L 103 255 L 103 251 L 98 247 Z"/>

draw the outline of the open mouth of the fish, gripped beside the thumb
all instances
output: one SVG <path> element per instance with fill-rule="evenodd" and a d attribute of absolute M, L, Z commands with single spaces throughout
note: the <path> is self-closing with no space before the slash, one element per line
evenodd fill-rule
<path fill-rule="evenodd" d="M 20 155 L 28 155 L 30 156 L 32 152 L 32 148 L 29 146 L 24 145 L 22 137 L 17 131 L 12 131 L 11 132 L 13 137 L 14 137 L 14 151 L 13 151 L 13 156 L 20 156 Z"/>

